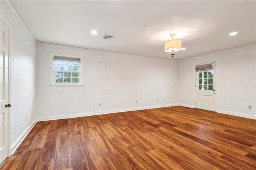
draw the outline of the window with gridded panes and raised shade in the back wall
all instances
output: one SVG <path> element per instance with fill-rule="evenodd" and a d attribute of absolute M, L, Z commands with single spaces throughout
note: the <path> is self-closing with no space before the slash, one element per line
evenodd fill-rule
<path fill-rule="evenodd" d="M 50 86 L 83 86 L 83 58 L 51 53 Z"/>

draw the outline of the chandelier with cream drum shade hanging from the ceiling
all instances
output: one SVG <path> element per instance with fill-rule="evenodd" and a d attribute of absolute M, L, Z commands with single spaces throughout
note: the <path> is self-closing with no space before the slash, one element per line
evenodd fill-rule
<path fill-rule="evenodd" d="M 172 40 L 164 43 L 164 51 L 173 57 L 174 54 L 178 53 L 178 51 L 181 49 L 181 40 L 173 40 L 175 34 L 171 34 L 170 36 L 172 37 Z"/>

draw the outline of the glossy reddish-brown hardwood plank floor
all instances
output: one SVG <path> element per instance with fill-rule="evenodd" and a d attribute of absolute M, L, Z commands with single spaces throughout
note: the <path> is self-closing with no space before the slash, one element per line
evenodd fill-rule
<path fill-rule="evenodd" d="M 256 120 L 166 107 L 38 122 L 1 170 L 256 169 Z"/>

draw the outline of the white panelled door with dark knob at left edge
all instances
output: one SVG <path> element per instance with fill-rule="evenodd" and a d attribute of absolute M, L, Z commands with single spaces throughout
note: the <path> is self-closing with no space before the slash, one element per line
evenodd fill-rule
<path fill-rule="evenodd" d="M 0 58 L 0 164 L 8 153 L 8 26 L 1 20 L 1 58 Z"/>

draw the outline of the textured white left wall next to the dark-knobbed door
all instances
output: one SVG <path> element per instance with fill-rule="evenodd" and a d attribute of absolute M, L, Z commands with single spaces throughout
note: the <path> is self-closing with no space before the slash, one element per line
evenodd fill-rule
<path fill-rule="evenodd" d="M 1 17 L 10 26 L 11 144 L 14 144 L 36 119 L 36 40 L 10 2 L 1 0 Z"/>

